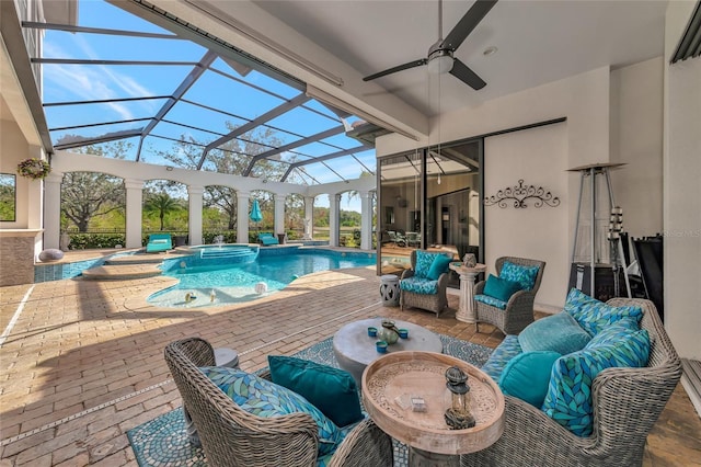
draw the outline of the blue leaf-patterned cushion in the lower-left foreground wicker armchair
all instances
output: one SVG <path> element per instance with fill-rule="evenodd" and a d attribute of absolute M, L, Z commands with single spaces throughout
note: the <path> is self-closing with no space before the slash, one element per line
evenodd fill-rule
<path fill-rule="evenodd" d="M 329 418 L 283 386 L 237 368 L 205 366 L 199 369 L 241 409 L 254 415 L 281 417 L 296 412 L 311 415 L 319 428 L 320 456 L 333 453 L 343 441 L 344 433 Z"/>

